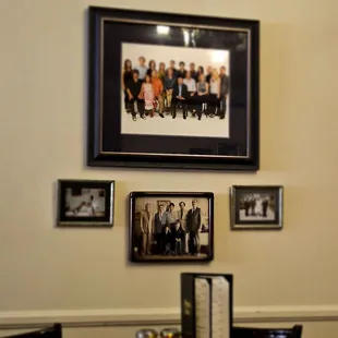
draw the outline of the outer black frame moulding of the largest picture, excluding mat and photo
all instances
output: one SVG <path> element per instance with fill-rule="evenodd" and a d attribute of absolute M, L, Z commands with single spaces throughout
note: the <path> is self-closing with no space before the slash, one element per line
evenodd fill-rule
<path fill-rule="evenodd" d="M 93 167 L 132 167 L 204 170 L 259 169 L 259 21 L 89 7 L 89 123 L 87 165 Z M 137 20 L 140 15 L 156 20 Z M 203 29 L 248 32 L 248 110 L 246 156 L 128 153 L 102 150 L 104 23 L 107 21 L 201 27 Z M 206 24 L 207 23 L 207 24 Z M 213 24 L 214 23 L 214 24 Z M 253 45 L 253 46 L 252 46 Z M 95 47 L 95 48 L 94 48 Z M 230 137 L 231 140 L 231 137 Z M 234 144 L 226 147 L 233 148 Z"/>

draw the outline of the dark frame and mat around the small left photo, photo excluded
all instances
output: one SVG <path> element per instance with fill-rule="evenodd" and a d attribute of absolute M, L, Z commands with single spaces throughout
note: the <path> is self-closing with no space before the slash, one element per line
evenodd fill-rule
<path fill-rule="evenodd" d="M 67 216 L 67 189 L 99 189 L 105 191 L 105 215 L 93 217 Z M 114 219 L 114 181 L 106 180 L 58 180 L 58 227 L 111 228 Z"/>

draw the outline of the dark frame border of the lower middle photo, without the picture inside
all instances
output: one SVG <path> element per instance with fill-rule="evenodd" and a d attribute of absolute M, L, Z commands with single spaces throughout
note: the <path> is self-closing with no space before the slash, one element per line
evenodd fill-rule
<path fill-rule="evenodd" d="M 152 257 L 152 256 L 141 256 L 136 251 L 136 239 L 134 236 L 134 230 L 136 227 L 136 200 L 140 197 L 149 197 L 160 201 L 168 201 L 168 198 L 207 198 L 208 200 L 208 253 L 205 257 L 193 257 L 189 255 L 183 256 L 165 256 L 162 257 Z M 186 208 L 188 210 L 188 208 Z M 157 210 L 154 210 L 154 216 Z M 130 194 L 130 225 L 129 225 L 129 257 L 131 262 L 134 263 L 208 263 L 214 259 L 214 193 L 212 192 L 132 192 Z"/>

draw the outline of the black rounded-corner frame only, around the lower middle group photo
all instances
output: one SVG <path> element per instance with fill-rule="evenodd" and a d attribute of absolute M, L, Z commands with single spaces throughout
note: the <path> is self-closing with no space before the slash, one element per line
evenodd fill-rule
<path fill-rule="evenodd" d="M 205 258 L 195 258 L 190 259 L 188 257 L 182 257 L 180 259 L 173 258 L 159 258 L 159 259 L 137 259 L 133 254 L 133 230 L 135 227 L 135 206 L 136 206 L 136 198 L 140 197 L 157 197 L 159 200 L 165 201 L 168 197 L 190 197 L 190 198 L 207 198 L 208 200 L 208 219 L 209 219 L 209 255 Z M 214 202 L 215 196 L 212 192 L 142 192 L 142 191 L 133 191 L 129 195 L 129 261 L 135 264 L 201 264 L 201 263 L 209 263 L 214 261 Z"/>

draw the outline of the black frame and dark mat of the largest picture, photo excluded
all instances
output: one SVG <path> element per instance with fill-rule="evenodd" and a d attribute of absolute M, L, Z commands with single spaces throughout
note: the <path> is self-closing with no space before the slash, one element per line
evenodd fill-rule
<path fill-rule="evenodd" d="M 89 7 L 88 15 L 88 166 L 259 169 L 259 21 L 99 7 Z M 173 32 L 168 40 L 156 35 L 162 25 Z M 122 133 L 122 45 L 184 47 L 183 31 L 200 34 L 189 48 L 229 51 L 229 137 Z"/>

